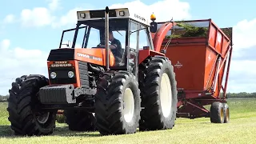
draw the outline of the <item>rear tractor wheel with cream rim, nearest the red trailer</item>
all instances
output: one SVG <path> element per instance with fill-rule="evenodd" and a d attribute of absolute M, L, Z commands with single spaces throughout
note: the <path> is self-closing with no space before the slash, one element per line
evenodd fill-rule
<path fill-rule="evenodd" d="M 177 113 L 177 82 L 168 58 L 154 56 L 139 66 L 142 98 L 140 130 L 172 129 Z"/>

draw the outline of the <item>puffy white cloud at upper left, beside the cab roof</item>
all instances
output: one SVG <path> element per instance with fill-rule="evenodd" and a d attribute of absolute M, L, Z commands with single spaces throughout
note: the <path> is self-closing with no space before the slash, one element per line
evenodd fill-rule
<path fill-rule="evenodd" d="M 36 7 L 33 10 L 24 9 L 21 13 L 22 26 L 47 26 L 54 21 L 54 16 L 45 7 Z"/>

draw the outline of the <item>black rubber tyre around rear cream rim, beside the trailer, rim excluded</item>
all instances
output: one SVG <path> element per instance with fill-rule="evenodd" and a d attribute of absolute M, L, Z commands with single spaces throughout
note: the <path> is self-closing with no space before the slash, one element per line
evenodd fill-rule
<path fill-rule="evenodd" d="M 165 122 L 162 118 L 160 106 L 159 86 L 162 70 L 170 70 L 170 83 L 172 85 L 173 98 L 173 117 L 171 122 Z M 139 88 L 142 98 L 142 114 L 140 121 L 140 130 L 165 130 L 172 129 L 176 119 L 177 111 L 177 82 L 175 80 L 174 67 L 171 65 L 169 58 L 163 56 L 154 56 L 147 58 L 139 66 Z"/>

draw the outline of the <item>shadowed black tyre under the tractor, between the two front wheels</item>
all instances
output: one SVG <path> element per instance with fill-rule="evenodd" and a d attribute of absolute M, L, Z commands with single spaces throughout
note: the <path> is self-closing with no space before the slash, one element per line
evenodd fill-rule
<path fill-rule="evenodd" d="M 96 119 L 93 114 L 83 110 L 64 110 L 66 123 L 73 131 L 95 131 Z"/>

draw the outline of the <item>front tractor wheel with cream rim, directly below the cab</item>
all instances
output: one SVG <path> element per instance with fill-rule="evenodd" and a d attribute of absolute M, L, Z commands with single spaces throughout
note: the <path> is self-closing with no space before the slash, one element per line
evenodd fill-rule
<path fill-rule="evenodd" d="M 140 90 L 133 74 L 106 73 L 98 82 L 95 96 L 97 130 L 103 134 L 134 134 L 141 111 Z"/>

